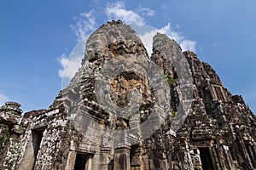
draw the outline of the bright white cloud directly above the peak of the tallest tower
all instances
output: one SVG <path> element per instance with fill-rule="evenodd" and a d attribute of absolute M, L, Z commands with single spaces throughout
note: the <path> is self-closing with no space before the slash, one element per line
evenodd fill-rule
<path fill-rule="evenodd" d="M 126 24 L 145 24 L 144 18 L 142 16 L 136 14 L 134 11 L 127 10 L 125 8 L 125 3 L 120 1 L 116 3 L 108 3 L 107 7 L 105 8 L 105 12 L 108 16 L 108 20 L 122 20 Z M 149 12 L 148 14 L 152 14 L 152 12 Z"/>

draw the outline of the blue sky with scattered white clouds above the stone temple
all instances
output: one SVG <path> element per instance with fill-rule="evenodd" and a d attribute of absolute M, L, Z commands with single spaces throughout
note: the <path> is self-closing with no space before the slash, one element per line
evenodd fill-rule
<path fill-rule="evenodd" d="M 146 3 L 145 3 L 146 2 Z M 165 31 L 212 65 L 232 94 L 256 112 L 256 1 L 2 1 L 0 104 L 48 108 L 79 60 L 68 55 L 106 21 L 122 19 Z M 63 74 L 63 65 L 69 70 Z M 64 70 L 65 71 L 65 70 Z"/>

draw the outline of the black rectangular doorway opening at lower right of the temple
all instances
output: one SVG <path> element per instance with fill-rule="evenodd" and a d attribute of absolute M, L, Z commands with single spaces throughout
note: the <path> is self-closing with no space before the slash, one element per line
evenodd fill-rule
<path fill-rule="evenodd" d="M 209 148 L 199 148 L 200 158 L 203 170 L 213 170 L 212 156 Z"/>

